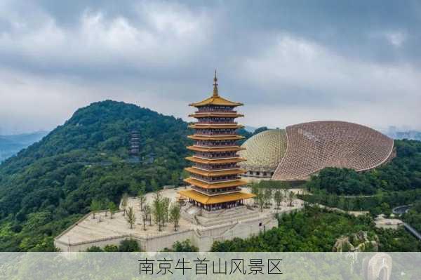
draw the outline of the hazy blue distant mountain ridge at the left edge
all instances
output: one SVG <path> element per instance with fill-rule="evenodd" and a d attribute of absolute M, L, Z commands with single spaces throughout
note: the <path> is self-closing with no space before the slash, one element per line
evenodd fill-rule
<path fill-rule="evenodd" d="M 34 142 L 38 142 L 47 134 L 47 131 L 36 131 L 34 133 L 0 135 L 0 162 L 17 154 L 21 149 L 25 149 Z"/>

